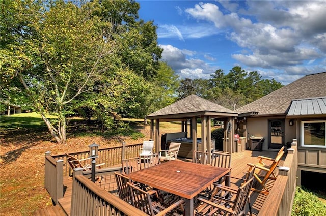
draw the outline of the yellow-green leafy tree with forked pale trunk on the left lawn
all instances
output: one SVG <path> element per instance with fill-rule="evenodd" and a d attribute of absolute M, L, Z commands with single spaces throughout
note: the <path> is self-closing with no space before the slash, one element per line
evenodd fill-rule
<path fill-rule="evenodd" d="M 111 23 L 90 16 L 94 3 L 87 6 L 64 1 L 1 5 L 2 72 L 11 86 L 22 89 L 58 143 L 66 141 L 66 116 L 73 113 L 75 99 L 110 85 L 97 82 L 116 52 L 115 41 L 102 31 Z M 58 119 L 51 122 L 47 113 L 57 113 Z"/>

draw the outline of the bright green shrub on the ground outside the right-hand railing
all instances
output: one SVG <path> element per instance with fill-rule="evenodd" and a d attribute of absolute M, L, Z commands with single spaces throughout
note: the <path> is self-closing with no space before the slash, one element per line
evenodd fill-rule
<path fill-rule="evenodd" d="M 291 215 L 326 215 L 326 203 L 319 200 L 311 191 L 296 187 Z"/>

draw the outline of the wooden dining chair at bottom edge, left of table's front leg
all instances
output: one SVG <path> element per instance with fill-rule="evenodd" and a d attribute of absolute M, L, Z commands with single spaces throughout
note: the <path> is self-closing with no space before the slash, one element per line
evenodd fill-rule
<path fill-rule="evenodd" d="M 132 197 L 132 205 L 138 208 L 141 211 L 144 211 L 146 214 L 154 216 L 154 215 L 166 215 L 168 212 L 176 211 L 175 209 L 179 206 L 183 209 L 183 200 L 180 199 L 179 201 L 175 202 L 174 204 L 170 205 L 169 207 L 164 207 L 160 204 L 160 202 L 152 201 L 151 196 L 148 192 L 142 190 L 134 186 L 131 183 L 127 183 L 129 187 L 129 191 Z M 175 212 L 176 213 L 176 212 Z M 174 214 L 176 215 L 176 214 Z"/>

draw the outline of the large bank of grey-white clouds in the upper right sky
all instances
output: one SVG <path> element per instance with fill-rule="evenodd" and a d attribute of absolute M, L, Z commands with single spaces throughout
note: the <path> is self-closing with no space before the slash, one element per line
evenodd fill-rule
<path fill-rule="evenodd" d="M 289 74 L 310 71 L 307 62 L 326 56 L 326 1 L 226 1 L 199 3 L 185 12 L 193 18 L 213 23 L 226 38 L 247 54 L 232 57 L 245 67 L 283 70 Z"/>

